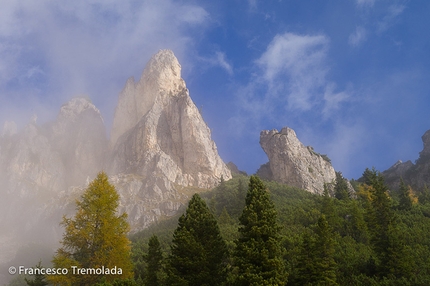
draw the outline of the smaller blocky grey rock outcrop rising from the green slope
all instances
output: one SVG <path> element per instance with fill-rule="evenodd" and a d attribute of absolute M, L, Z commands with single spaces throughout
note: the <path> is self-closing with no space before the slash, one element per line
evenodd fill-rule
<path fill-rule="evenodd" d="M 324 183 L 333 183 L 336 173 L 327 157 L 305 147 L 291 128 L 264 130 L 260 145 L 269 163 L 257 172 L 271 180 L 285 183 L 312 193 L 322 194 Z"/>

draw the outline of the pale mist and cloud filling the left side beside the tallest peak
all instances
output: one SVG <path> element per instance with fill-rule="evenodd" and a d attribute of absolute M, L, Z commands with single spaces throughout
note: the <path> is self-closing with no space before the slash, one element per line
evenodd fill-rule
<path fill-rule="evenodd" d="M 205 29 L 207 20 L 203 8 L 170 0 L 2 4 L 1 269 L 11 263 L 34 266 L 39 259 L 49 265 L 62 237 L 62 216 L 73 214 L 74 200 L 103 169 L 118 94 L 127 78 L 140 78 L 159 49 L 170 48 L 187 62 L 190 35 Z M 82 123 L 87 133 L 79 124 L 55 131 L 62 105 L 82 95 L 91 98 L 102 121 Z M 81 146 L 85 156 L 76 158 L 77 134 L 105 147 Z M 0 275 L 2 285 L 13 278 Z"/>

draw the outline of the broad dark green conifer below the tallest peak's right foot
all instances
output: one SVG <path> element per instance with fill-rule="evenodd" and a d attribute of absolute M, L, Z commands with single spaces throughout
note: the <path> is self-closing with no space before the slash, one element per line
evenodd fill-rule
<path fill-rule="evenodd" d="M 226 279 L 227 246 L 206 203 L 194 194 L 173 234 L 168 285 L 221 285 Z"/>

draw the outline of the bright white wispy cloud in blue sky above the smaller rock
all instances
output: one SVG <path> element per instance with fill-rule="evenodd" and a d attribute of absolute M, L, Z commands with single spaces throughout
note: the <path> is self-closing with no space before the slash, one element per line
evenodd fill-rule
<path fill-rule="evenodd" d="M 323 35 L 277 35 L 257 60 L 273 93 L 287 92 L 291 109 L 308 110 L 324 85 L 329 40 Z"/>

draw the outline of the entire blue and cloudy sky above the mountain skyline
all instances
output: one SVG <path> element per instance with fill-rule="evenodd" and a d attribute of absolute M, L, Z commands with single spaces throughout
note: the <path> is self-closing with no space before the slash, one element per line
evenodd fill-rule
<path fill-rule="evenodd" d="M 109 133 L 127 78 L 171 49 L 225 162 L 295 130 L 349 179 L 418 158 L 430 129 L 430 1 L 0 0 L 0 128 L 89 96 Z"/>

